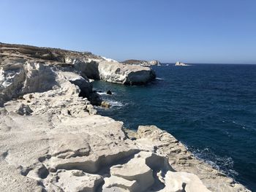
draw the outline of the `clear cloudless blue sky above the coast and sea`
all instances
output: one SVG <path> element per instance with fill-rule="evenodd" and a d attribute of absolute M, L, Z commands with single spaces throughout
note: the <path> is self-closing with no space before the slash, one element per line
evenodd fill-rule
<path fill-rule="evenodd" d="M 1 0 L 0 42 L 118 61 L 256 64 L 256 0 Z"/>

